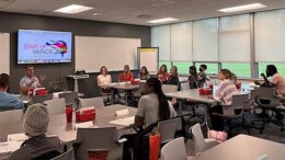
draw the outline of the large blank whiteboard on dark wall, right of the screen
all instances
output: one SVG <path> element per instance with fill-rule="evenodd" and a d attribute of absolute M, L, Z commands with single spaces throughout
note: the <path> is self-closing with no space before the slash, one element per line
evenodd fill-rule
<path fill-rule="evenodd" d="M 109 71 L 123 70 L 124 65 L 137 69 L 139 38 L 76 36 L 76 70 L 98 72 L 102 66 Z"/>

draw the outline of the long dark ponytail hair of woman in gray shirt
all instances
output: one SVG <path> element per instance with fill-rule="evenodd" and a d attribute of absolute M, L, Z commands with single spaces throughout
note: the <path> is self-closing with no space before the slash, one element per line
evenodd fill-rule
<path fill-rule="evenodd" d="M 157 78 L 150 78 L 146 83 L 149 88 L 152 88 L 153 93 L 157 94 L 159 101 L 159 121 L 167 121 L 170 118 L 170 108 L 168 99 L 161 89 L 161 82 Z"/>

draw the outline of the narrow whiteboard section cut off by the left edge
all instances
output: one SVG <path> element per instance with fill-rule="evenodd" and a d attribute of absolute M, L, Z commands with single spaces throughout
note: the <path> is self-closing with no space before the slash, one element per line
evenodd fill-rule
<path fill-rule="evenodd" d="M 0 33 L 0 73 L 10 75 L 10 34 Z"/>

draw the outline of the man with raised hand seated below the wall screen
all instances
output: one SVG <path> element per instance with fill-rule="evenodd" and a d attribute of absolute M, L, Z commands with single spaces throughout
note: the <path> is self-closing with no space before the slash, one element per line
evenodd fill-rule
<path fill-rule="evenodd" d="M 25 67 L 25 76 L 20 80 L 20 93 L 23 95 L 27 95 L 29 88 L 36 89 L 41 88 L 45 76 L 39 76 L 39 79 L 34 75 L 34 67 L 26 66 Z"/>

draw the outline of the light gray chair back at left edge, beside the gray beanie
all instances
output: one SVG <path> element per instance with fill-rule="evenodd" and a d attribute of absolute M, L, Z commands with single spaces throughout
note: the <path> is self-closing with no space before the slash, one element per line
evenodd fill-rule
<path fill-rule="evenodd" d="M 23 115 L 23 110 L 0 112 L 0 125 L 21 122 Z"/>

